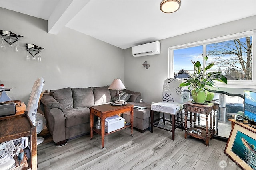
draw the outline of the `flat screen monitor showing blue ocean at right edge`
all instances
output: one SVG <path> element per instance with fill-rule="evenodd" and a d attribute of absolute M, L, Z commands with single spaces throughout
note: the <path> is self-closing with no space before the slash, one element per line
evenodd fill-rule
<path fill-rule="evenodd" d="M 244 119 L 256 124 L 256 92 L 244 91 Z"/>

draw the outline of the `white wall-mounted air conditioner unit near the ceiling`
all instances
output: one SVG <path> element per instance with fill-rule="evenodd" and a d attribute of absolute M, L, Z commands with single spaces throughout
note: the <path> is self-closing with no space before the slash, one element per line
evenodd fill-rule
<path fill-rule="evenodd" d="M 160 42 L 142 44 L 132 47 L 133 57 L 140 57 L 144 55 L 160 54 Z"/>

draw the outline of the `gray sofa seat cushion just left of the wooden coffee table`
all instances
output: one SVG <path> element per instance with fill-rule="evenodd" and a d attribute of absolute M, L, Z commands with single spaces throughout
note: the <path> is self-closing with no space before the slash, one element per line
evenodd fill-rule
<path fill-rule="evenodd" d="M 90 109 L 87 107 L 76 107 L 67 109 L 66 127 L 72 127 L 83 123 L 90 123 Z"/>

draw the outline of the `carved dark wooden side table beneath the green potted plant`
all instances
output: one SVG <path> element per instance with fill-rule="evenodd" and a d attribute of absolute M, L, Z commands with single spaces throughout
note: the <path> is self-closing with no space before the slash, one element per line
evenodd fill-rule
<path fill-rule="evenodd" d="M 203 139 L 205 141 L 205 145 L 209 145 L 209 139 L 212 139 L 212 131 L 214 131 L 214 127 L 212 126 L 212 109 L 213 109 L 214 103 L 208 103 L 208 104 L 194 104 L 191 101 L 184 103 L 184 109 L 185 109 L 185 139 L 188 135 L 191 135 L 193 137 Z M 190 112 L 190 128 L 187 128 L 187 120 L 188 120 L 188 112 Z M 198 127 L 194 125 L 192 127 L 192 113 L 194 113 L 194 119 L 196 119 L 196 113 L 204 114 L 206 115 L 206 127 Z M 208 125 L 208 115 L 210 113 L 210 131 L 209 131 L 209 125 Z M 189 131 L 202 129 L 201 135 L 190 133 Z"/>

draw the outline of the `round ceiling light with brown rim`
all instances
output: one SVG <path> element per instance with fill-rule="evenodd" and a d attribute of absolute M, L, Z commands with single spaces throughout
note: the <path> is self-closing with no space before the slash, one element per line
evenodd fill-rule
<path fill-rule="evenodd" d="M 164 13 L 172 13 L 180 9 L 180 0 L 163 0 L 160 4 L 160 10 Z"/>

